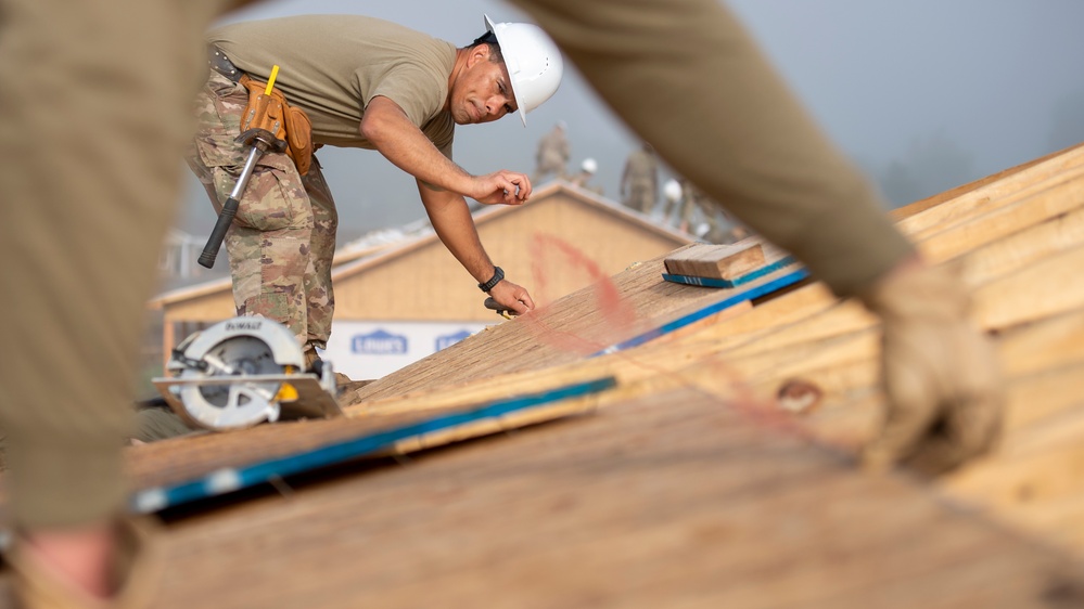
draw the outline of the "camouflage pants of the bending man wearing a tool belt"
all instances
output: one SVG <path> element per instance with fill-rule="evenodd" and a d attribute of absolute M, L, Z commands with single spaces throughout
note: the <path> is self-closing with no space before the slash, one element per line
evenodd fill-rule
<path fill-rule="evenodd" d="M 214 72 L 196 99 L 199 130 L 188 160 L 216 211 L 247 157 L 234 141 L 247 101 L 244 87 Z M 275 320 L 302 345 L 323 348 L 335 308 L 331 260 L 339 213 L 320 165 L 313 160 L 303 177 L 285 154 L 260 158 L 226 234 L 226 250 L 238 315 Z"/>

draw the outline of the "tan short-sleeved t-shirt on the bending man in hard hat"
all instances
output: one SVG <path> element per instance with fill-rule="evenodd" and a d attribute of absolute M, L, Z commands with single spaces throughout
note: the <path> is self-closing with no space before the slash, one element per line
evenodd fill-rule
<path fill-rule="evenodd" d="M 372 148 L 360 132 L 369 101 L 394 101 L 451 158 L 456 124 L 443 111 L 456 47 L 391 22 L 359 15 L 302 15 L 211 30 L 207 40 L 235 66 L 267 80 L 313 120 L 313 141 Z"/>

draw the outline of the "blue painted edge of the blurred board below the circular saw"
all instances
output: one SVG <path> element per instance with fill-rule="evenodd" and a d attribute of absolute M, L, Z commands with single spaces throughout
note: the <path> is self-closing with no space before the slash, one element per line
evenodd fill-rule
<path fill-rule="evenodd" d="M 616 380 L 612 376 L 608 376 L 587 383 L 569 385 L 551 391 L 492 402 L 474 410 L 436 416 L 419 423 L 368 433 L 359 438 L 294 455 L 243 467 L 222 468 L 189 482 L 139 491 L 131 498 L 131 509 L 136 513 L 148 514 L 166 507 L 221 495 L 254 487 L 276 478 L 311 471 L 321 467 L 375 454 L 394 446 L 396 442 L 410 438 L 425 436 L 434 431 L 442 431 L 487 418 L 496 418 L 514 412 L 527 411 L 532 407 L 551 404 L 561 400 L 599 393 L 614 386 L 616 386 Z"/>

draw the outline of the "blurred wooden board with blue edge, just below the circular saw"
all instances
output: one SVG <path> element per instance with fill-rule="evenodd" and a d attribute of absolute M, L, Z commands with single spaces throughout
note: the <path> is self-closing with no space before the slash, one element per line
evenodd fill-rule
<path fill-rule="evenodd" d="M 594 407 L 612 378 L 395 416 L 301 420 L 128 450 L 137 513 L 157 511 L 365 456 L 403 454 Z"/>

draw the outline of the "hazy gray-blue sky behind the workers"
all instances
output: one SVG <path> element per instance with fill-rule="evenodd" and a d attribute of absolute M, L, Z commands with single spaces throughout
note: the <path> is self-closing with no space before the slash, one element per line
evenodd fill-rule
<path fill-rule="evenodd" d="M 589 1 L 589 0 L 585 0 Z M 732 0 L 821 127 L 864 169 L 877 176 L 934 134 L 973 161 L 967 181 L 1053 148 L 1056 105 L 1084 113 L 1084 2 L 1080 0 Z M 386 18 L 457 46 L 495 21 L 530 21 L 494 0 L 278 0 L 227 21 L 302 13 L 357 13 Z M 704 75 L 710 78 L 711 75 Z M 530 173 L 536 145 L 553 124 L 569 125 L 572 165 L 599 161 L 597 182 L 615 196 L 635 138 L 573 67 L 557 95 L 518 119 L 459 128 L 456 160 L 468 171 Z M 1084 132 L 1076 133 L 1084 140 Z M 323 148 L 343 236 L 423 216 L 413 180 L 379 153 Z M 195 184 L 194 179 L 189 181 Z M 181 224 L 209 231 L 209 203 L 197 185 Z M 932 193 L 931 193 L 932 194 Z"/>

